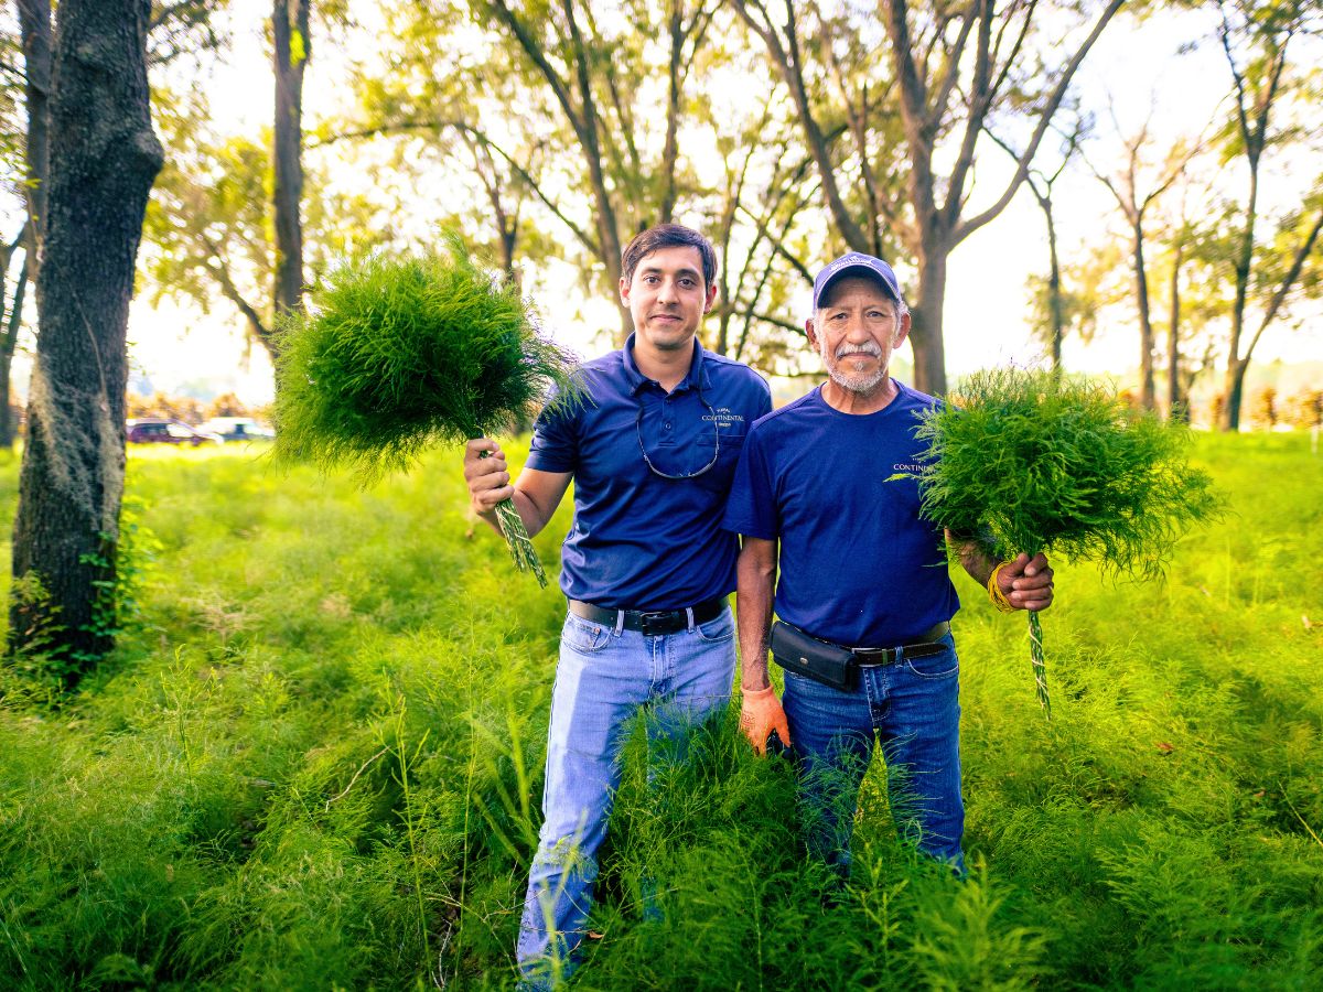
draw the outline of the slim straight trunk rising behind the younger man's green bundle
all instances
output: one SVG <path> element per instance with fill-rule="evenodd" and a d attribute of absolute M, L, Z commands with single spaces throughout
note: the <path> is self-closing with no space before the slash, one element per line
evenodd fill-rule
<path fill-rule="evenodd" d="M 308 63 L 311 0 L 275 0 L 275 316 L 303 307 L 303 69 Z M 271 357 L 275 343 L 263 337 Z"/>

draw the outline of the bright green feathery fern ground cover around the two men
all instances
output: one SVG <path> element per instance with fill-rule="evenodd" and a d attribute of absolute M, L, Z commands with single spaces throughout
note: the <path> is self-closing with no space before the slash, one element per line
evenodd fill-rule
<path fill-rule="evenodd" d="M 1323 456 L 1195 460 L 1229 513 L 1166 582 L 1058 570 L 1050 723 L 1019 618 L 957 577 L 968 882 L 898 847 L 875 768 L 833 895 L 732 714 L 651 799 L 632 755 L 574 987 L 1316 987 Z M 513 984 L 562 603 L 471 530 L 458 463 L 364 493 L 131 454 L 143 626 L 60 706 L 0 675 L 0 988 Z"/>

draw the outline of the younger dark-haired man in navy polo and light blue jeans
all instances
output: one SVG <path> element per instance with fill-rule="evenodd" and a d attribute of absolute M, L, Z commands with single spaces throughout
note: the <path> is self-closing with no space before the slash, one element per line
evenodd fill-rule
<path fill-rule="evenodd" d="M 729 701 L 738 546 L 721 513 L 747 427 L 771 410 L 758 374 L 695 340 L 717 292 L 706 238 L 660 225 L 622 262 L 635 331 L 583 366 L 591 399 L 538 418 L 513 485 L 493 442 L 470 442 L 464 455 L 474 508 L 493 526 L 492 508 L 511 497 L 536 534 L 574 480 L 545 823 L 517 947 L 533 988 L 568 975 L 583 938 L 630 717 L 648 709 L 651 749 Z"/>

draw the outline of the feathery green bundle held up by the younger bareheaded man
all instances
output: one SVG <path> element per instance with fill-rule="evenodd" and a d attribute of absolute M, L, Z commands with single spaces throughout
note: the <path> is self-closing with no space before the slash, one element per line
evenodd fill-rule
<path fill-rule="evenodd" d="M 345 265 L 279 332 L 275 458 L 349 467 L 368 485 L 438 443 L 524 422 L 553 392 L 581 390 L 572 357 L 542 336 L 519 288 L 455 234 L 445 251 Z M 554 390 L 552 388 L 554 386 Z M 521 571 L 546 585 L 515 505 L 496 508 Z"/>

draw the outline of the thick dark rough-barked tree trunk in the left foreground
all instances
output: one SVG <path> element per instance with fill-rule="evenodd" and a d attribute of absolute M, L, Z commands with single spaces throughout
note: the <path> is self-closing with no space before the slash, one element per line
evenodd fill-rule
<path fill-rule="evenodd" d="M 56 32 L 9 638 L 12 648 L 64 657 L 69 681 L 114 638 L 106 590 L 124 484 L 124 332 L 143 213 L 164 157 L 148 110 L 149 9 L 148 0 L 61 0 Z M 46 598 L 22 595 L 33 581 Z"/>

